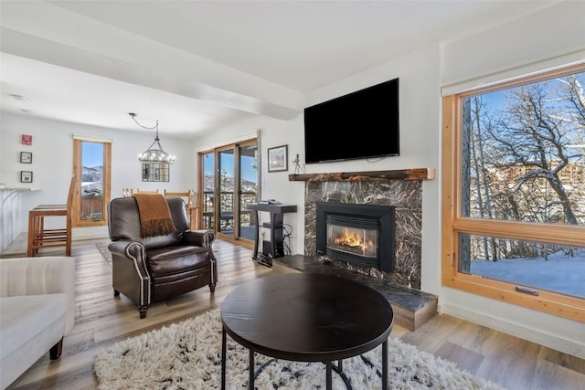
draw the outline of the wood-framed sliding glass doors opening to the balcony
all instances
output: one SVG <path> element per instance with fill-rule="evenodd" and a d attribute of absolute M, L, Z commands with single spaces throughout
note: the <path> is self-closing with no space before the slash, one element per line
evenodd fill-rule
<path fill-rule="evenodd" d="M 259 199 L 256 139 L 199 153 L 203 227 L 230 241 L 254 240 L 256 220 L 247 205 Z"/>

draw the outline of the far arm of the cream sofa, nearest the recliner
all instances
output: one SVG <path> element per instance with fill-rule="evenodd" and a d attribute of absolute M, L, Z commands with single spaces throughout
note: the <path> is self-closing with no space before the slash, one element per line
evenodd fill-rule
<path fill-rule="evenodd" d="M 65 332 L 75 323 L 75 258 L 0 258 L 0 297 L 65 293 Z"/>

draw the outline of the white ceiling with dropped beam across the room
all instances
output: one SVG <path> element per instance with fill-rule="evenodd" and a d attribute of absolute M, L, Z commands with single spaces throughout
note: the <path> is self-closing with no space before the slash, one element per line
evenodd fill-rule
<path fill-rule="evenodd" d="M 0 101 L 141 131 L 135 112 L 188 138 L 254 115 L 291 119 L 312 90 L 555 3 L 0 0 Z"/>

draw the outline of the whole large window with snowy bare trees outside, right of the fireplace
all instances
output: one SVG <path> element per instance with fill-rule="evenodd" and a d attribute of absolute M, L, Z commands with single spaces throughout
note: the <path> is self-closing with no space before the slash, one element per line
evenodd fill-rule
<path fill-rule="evenodd" d="M 443 99 L 442 283 L 585 322 L 585 65 Z"/>

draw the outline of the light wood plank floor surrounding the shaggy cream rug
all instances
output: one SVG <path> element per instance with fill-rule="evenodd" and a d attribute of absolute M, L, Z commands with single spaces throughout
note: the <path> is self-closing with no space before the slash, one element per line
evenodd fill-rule
<path fill-rule="evenodd" d="M 297 272 L 276 263 L 271 269 L 261 266 L 252 261 L 249 248 L 226 241 L 217 240 L 214 250 L 219 277 L 215 294 L 206 287 L 154 303 L 140 320 L 130 300 L 123 296 L 114 299 L 112 268 L 95 243 L 74 243 L 75 327 L 65 338 L 63 355 L 50 361 L 47 353 L 9 389 L 95 389 L 98 380 L 92 359 L 101 348 L 218 308 L 229 291 L 244 281 Z M 391 337 L 451 360 L 507 389 L 585 389 L 585 360 L 449 315 L 434 317 L 416 332 L 395 326 Z"/>

